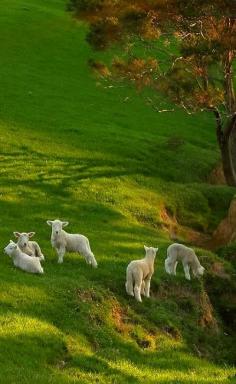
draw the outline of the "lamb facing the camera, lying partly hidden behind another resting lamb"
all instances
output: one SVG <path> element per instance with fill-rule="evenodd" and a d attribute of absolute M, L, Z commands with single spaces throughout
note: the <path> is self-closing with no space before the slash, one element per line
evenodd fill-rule
<path fill-rule="evenodd" d="M 29 239 L 35 235 L 35 232 L 13 232 L 17 240 L 17 245 L 20 250 L 29 256 L 38 257 L 40 261 L 45 260 L 44 255 L 40 249 L 40 246 L 36 241 L 30 241 Z"/>

